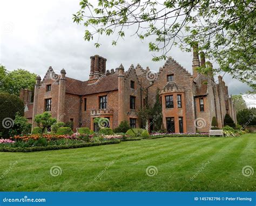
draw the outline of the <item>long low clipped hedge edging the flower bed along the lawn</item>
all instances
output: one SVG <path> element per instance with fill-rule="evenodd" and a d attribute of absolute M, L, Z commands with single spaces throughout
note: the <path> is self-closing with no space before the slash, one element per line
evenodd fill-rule
<path fill-rule="evenodd" d="M 74 145 L 49 145 L 49 146 L 38 146 L 38 147 L 0 147 L 0 152 L 38 152 L 46 150 L 58 150 L 58 149 L 72 149 L 72 148 L 81 148 L 81 147 L 92 147 L 100 145 L 112 145 L 120 143 L 120 140 L 111 140 L 105 142 L 89 142 L 89 143 L 79 143 Z"/>

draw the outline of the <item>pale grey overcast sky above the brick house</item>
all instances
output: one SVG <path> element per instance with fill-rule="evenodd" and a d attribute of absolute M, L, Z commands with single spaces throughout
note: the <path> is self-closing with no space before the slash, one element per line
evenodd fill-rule
<path fill-rule="evenodd" d="M 138 63 L 158 71 L 164 61 L 153 62 L 148 42 L 140 42 L 126 33 L 125 40 L 111 46 L 114 37 L 100 40 L 102 46 L 96 49 L 93 43 L 83 39 L 85 28 L 72 22 L 72 13 L 79 10 L 79 0 L 1 0 L 1 46 L 0 64 L 7 70 L 22 68 L 44 77 L 49 66 L 59 73 L 65 68 L 66 75 L 87 80 L 90 72 L 90 56 L 99 54 L 107 59 L 107 69 L 121 63 L 125 69 Z M 192 54 L 173 48 L 172 56 L 186 70 L 192 72 Z M 217 79 L 217 78 L 215 78 Z M 230 94 L 245 93 L 250 88 L 227 74 L 224 80 Z M 255 99 L 254 99 L 255 101 Z"/>

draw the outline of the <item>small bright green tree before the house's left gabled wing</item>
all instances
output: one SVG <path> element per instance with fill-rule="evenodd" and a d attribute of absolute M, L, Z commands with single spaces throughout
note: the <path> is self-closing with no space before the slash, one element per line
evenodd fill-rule
<path fill-rule="evenodd" d="M 45 129 L 52 126 L 53 123 L 57 122 L 57 120 L 51 117 L 51 113 L 44 112 L 43 114 L 37 114 L 35 116 L 35 122 L 38 127 L 42 129 L 41 136 L 43 136 Z"/>

